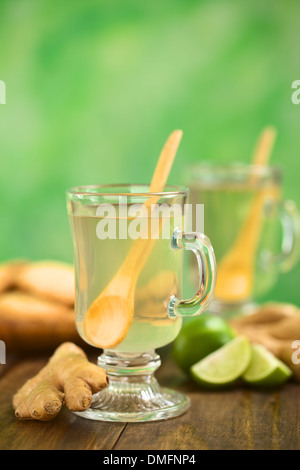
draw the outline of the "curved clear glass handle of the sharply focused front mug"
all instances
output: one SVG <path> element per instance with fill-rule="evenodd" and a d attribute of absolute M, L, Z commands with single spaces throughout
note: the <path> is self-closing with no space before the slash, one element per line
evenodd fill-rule
<path fill-rule="evenodd" d="M 176 230 L 172 236 L 172 248 L 192 250 L 197 258 L 199 287 L 189 300 L 179 300 L 174 295 L 168 305 L 171 318 L 200 315 L 208 309 L 214 295 L 217 280 L 217 264 L 213 247 L 202 233 Z"/>

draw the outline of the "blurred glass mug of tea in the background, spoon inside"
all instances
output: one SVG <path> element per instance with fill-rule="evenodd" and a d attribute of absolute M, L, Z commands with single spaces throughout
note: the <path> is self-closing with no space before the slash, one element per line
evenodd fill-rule
<path fill-rule="evenodd" d="M 277 167 L 199 164 L 189 168 L 191 202 L 204 204 L 218 280 L 213 312 L 251 312 L 279 272 L 299 259 L 300 222 L 293 201 L 281 199 Z M 194 278 L 190 262 L 190 278 Z"/>

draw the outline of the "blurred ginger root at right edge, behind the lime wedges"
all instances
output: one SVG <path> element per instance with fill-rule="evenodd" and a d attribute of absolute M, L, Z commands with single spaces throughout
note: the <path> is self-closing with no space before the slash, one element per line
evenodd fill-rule
<path fill-rule="evenodd" d="M 265 346 L 285 362 L 300 382 L 300 364 L 292 362 L 295 349 L 292 344 L 300 340 L 300 309 L 291 304 L 267 303 L 249 316 L 234 318 L 230 325 L 252 343 Z"/>

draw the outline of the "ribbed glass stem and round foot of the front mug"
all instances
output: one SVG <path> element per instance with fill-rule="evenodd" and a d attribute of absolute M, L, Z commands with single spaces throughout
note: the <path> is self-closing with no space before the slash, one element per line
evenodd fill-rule
<path fill-rule="evenodd" d="M 154 351 L 136 356 L 105 350 L 98 365 L 107 371 L 109 387 L 94 395 L 87 411 L 76 414 L 118 422 L 157 421 L 181 415 L 189 408 L 190 399 L 160 387 L 153 376 L 160 364 Z"/>

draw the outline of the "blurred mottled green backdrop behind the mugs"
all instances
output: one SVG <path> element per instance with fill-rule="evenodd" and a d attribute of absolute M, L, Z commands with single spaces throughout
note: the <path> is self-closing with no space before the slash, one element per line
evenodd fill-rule
<path fill-rule="evenodd" d="M 149 182 L 167 135 L 188 162 L 250 160 L 266 124 L 300 205 L 300 4 L 1 0 L 0 259 L 70 261 L 65 189 Z M 300 304 L 300 265 L 268 298 Z"/>

